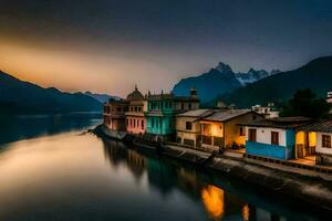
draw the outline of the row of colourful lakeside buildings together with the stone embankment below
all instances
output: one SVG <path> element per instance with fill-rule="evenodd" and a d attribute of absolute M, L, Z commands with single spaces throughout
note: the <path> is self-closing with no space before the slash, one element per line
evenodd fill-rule
<path fill-rule="evenodd" d="M 332 212 L 330 117 L 279 117 L 271 105 L 237 109 L 221 102 L 203 109 L 195 88 L 189 96 L 144 96 L 135 86 L 104 104 L 94 133 Z"/>

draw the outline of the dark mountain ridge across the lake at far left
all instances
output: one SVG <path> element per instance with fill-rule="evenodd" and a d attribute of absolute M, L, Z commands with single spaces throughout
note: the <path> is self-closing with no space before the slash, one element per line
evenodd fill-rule
<path fill-rule="evenodd" d="M 54 87 L 43 88 L 0 71 L 0 112 L 64 113 L 101 112 L 102 103 L 81 93 L 70 94 Z"/>

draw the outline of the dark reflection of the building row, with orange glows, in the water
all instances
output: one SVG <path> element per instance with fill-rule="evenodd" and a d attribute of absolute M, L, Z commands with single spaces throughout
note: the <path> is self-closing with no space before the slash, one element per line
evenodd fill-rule
<path fill-rule="evenodd" d="M 127 165 L 137 181 L 147 172 L 148 185 L 167 198 L 179 190 L 201 204 L 209 220 L 256 220 L 251 218 L 249 206 L 236 196 L 225 192 L 205 180 L 208 178 L 194 169 L 179 167 L 176 162 L 165 162 L 157 156 L 146 157 L 137 150 L 127 149 L 121 143 L 103 140 L 104 152 L 111 165 Z"/>

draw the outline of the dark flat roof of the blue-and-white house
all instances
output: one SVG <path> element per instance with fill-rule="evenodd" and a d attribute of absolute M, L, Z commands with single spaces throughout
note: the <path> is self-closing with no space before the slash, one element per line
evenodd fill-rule
<path fill-rule="evenodd" d="M 272 127 L 272 128 L 288 129 L 288 128 L 298 128 L 300 126 L 309 124 L 310 122 L 311 119 L 307 117 L 279 117 L 279 118 L 252 120 L 242 125 L 253 126 L 253 127 Z"/>

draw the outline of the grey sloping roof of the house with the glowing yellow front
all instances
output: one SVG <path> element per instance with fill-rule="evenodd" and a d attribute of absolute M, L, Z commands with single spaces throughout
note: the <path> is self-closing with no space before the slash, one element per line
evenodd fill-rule
<path fill-rule="evenodd" d="M 255 113 L 251 109 L 215 109 L 212 114 L 206 116 L 203 118 L 203 120 L 211 120 L 211 122 L 227 122 L 229 119 L 232 119 L 235 117 L 248 114 L 248 113 Z M 257 114 L 257 113 L 255 113 Z M 258 115 L 258 114 L 257 114 Z"/>

